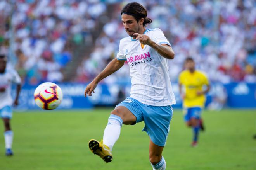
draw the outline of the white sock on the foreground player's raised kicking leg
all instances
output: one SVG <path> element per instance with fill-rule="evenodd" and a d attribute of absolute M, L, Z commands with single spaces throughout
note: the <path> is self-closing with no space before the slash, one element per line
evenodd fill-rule
<path fill-rule="evenodd" d="M 122 124 L 123 120 L 121 117 L 114 114 L 109 116 L 107 126 L 104 130 L 103 143 L 107 145 L 111 151 L 120 136 Z"/>

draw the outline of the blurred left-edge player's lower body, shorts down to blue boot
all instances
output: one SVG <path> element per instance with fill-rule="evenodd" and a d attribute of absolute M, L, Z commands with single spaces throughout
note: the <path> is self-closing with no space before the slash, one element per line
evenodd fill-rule
<path fill-rule="evenodd" d="M 6 155 L 11 156 L 13 155 L 12 152 L 12 140 L 13 140 L 13 132 L 10 127 L 10 119 L 12 118 L 12 110 L 10 106 L 5 106 L 0 110 L 0 114 L 3 120 L 3 124 L 5 127 L 4 138 L 5 138 L 5 149 Z"/>

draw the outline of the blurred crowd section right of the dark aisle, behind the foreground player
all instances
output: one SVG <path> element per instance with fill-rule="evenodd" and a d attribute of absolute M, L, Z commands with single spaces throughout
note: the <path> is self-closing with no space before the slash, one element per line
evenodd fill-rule
<path fill-rule="evenodd" d="M 213 82 L 256 82 L 256 7 L 253 0 L 140 2 L 153 20 L 148 28 L 160 28 L 175 51 L 175 59 L 170 61 L 172 81 L 177 81 L 184 59 L 192 56 L 197 68 L 205 71 Z M 116 4 L 90 58 L 78 68 L 78 80 L 91 80 L 115 57 L 119 40 L 127 37 L 120 16 L 125 4 Z M 128 65 L 116 75 L 105 81 L 129 79 Z"/>

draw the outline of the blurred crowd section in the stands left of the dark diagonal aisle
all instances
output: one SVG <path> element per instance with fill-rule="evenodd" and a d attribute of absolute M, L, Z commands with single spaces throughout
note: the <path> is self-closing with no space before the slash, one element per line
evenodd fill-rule
<path fill-rule="evenodd" d="M 105 10 L 97 0 L 1 0 L 0 52 L 15 51 L 24 82 L 61 82 L 73 44 L 90 36 Z"/>

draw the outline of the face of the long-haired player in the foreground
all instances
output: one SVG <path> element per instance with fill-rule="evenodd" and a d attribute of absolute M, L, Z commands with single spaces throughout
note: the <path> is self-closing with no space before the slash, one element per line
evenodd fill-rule
<path fill-rule="evenodd" d="M 123 14 L 122 22 L 123 22 L 125 31 L 130 37 L 136 37 L 136 36 L 133 36 L 133 34 L 138 33 L 140 29 L 143 28 L 143 25 L 142 25 L 143 22 L 141 23 L 141 20 L 137 22 L 137 20 L 131 15 Z"/>

